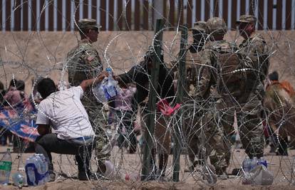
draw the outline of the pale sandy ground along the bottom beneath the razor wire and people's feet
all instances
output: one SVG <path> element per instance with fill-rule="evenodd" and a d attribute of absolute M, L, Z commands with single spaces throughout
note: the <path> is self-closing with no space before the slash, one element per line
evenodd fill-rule
<path fill-rule="evenodd" d="M 0 147 L 0 156 L 5 152 L 6 147 Z M 140 172 L 141 162 L 140 154 L 126 154 L 118 147 L 114 147 L 111 161 L 115 164 L 117 171 L 117 179 L 100 180 L 100 181 L 78 181 L 77 166 L 74 157 L 71 155 L 53 154 L 53 164 L 57 174 L 56 181 L 49 182 L 42 186 L 25 186 L 23 189 L 295 189 L 292 185 L 294 182 L 294 174 L 291 171 L 294 168 L 295 150 L 289 151 L 289 157 L 278 157 L 267 154 L 269 149 L 265 150 L 266 159 L 269 162 L 268 169 L 274 174 L 274 183 L 272 186 L 251 186 L 242 185 L 242 179 L 239 176 L 230 175 L 227 180 L 218 180 L 214 186 L 208 186 L 199 172 L 185 173 L 184 169 L 187 162 L 186 155 L 180 158 L 180 182 L 172 182 L 172 155 L 168 163 L 167 176 L 163 181 L 126 181 L 125 174 Z M 31 153 L 12 154 L 13 166 L 11 176 L 19 167 L 22 161 L 25 161 Z M 232 162 L 227 169 L 231 173 L 233 168 L 240 167 L 240 163 L 244 159 L 243 149 L 234 149 Z M 94 162 L 93 169 L 96 169 Z M 120 169 L 120 170 L 119 170 Z M 0 189 L 18 189 L 16 186 L 9 184 L 8 186 L 0 186 Z"/>

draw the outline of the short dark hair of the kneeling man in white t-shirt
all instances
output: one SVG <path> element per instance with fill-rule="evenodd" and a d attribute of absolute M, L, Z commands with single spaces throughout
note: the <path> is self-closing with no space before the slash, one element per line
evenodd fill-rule
<path fill-rule="evenodd" d="M 43 78 L 38 82 L 37 90 L 43 99 L 45 99 L 48 95 L 51 95 L 51 93 L 56 92 L 56 84 L 54 84 L 51 78 Z"/>

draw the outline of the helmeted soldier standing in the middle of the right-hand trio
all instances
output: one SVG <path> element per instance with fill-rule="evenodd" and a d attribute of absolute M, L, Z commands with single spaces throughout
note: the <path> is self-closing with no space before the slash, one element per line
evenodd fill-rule
<path fill-rule="evenodd" d="M 233 53 L 235 46 L 223 40 L 227 32 L 223 19 L 211 18 L 206 25 L 209 41 L 202 52 L 202 66 L 196 94 L 196 100 L 201 101 L 201 105 L 207 105 L 201 107 L 204 112 L 201 124 L 201 146 L 207 149 L 206 157 L 214 150 L 214 157 L 210 157 L 210 162 L 215 167 L 216 174 L 222 176 L 222 179 L 227 179 L 226 157 L 230 149 L 223 134 L 225 128 L 229 129 L 232 126 L 233 115 L 232 112 L 227 111 L 230 109 L 227 109 L 227 104 L 222 101 L 221 95 L 224 89 L 220 79 L 222 74 L 225 74 L 223 73 L 225 70 L 232 68 L 231 63 L 239 61 L 239 58 Z"/>

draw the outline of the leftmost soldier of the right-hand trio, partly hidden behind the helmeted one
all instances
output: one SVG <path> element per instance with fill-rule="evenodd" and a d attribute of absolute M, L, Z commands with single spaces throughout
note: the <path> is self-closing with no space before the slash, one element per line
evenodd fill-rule
<path fill-rule="evenodd" d="M 185 112 L 185 139 L 187 141 L 187 152 L 190 159 L 190 167 L 185 172 L 194 171 L 195 166 L 202 159 L 199 155 L 198 133 L 200 130 L 200 117 L 194 114 L 195 101 L 193 99 L 196 90 L 196 82 L 201 65 L 201 52 L 206 40 L 206 22 L 197 21 L 192 28 L 193 43 L 187 48 L 185 67 L 187 70 L 187 85 L 185 87 L 187 100 L 185 104 L 188 106 L 183 110 Z M 207 95 L 208 96 L 208 95 Z M 187 112 L 187 113 L 186 113 Z"/>

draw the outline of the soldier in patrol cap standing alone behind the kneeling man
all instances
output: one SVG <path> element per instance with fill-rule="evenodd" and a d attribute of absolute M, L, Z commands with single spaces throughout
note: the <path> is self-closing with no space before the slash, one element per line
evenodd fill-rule
<path fill-rule="evenodd" d="M 103 71 L 98 51 L 92 46 L 97 41 L 99 27 L 95 19 L 81 19 L 78 30 L 81 41 L 67 56 L 68 82 L 78 85 L 82 80 L 94 78 Z M 98 162 L 98 173 L 105 172 L 105 160 L 110 157 L 110 142 L 105 134 L 107 125 L 103 112 L 103 105 L 95 99 L 91 88 L 84 93 L 82 103 L 88 112 L 88 117 L 95 132 L 95 155 Z"/>

